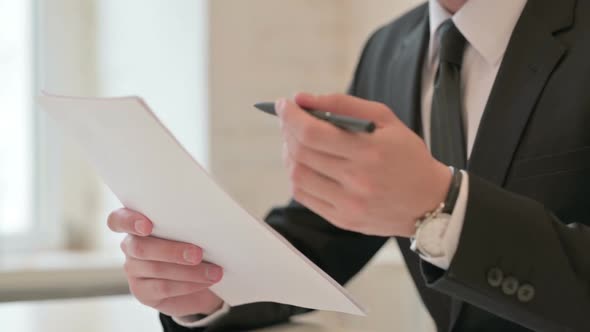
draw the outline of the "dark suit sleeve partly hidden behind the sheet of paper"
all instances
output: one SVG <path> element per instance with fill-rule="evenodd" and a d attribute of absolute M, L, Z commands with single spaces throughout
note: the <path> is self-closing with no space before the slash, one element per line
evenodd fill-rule
<path fill-rule="evenodd" d="M 381 248 L 387 238 L 367 236 L 341 230 L 304 206 L 292 201 L 273 209 L 266 221 L 305 256 L 340 284 L 350 280 Z M 253 303 L 232 307 L 227 315 L 206 328 L 186 328 L 161 314 L 164 330 L 243 331 L 283 323 L 309 309 L 278 303 Z"/>

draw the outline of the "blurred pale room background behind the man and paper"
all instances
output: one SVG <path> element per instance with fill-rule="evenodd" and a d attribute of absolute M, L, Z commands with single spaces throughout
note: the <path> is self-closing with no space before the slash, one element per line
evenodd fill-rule
<path fill-rule="evenodd" d="M 288 200 L 287 181 L 276 119 L 251 105 L 345 91 L 368 35 L 419 2 L 0 0 L 2 330 L 161 330 L 156 313 L 126 295 L 122 237 L 106 227 L 120 203 L 37 110 L 40 91 L 142 96 L 263 217 Z M 368 317 L 310 319 L 359 331 L 434 330 L 395 244 L 348 288 Z"/>

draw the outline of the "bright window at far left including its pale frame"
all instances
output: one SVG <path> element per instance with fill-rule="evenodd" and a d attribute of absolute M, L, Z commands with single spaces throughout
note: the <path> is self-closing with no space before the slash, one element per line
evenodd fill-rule
<path fill-rule="evenodd" d="M 37 0 L 0 0 L 0 254 L 63 244 L 60 147 L 34 104 Z"/>

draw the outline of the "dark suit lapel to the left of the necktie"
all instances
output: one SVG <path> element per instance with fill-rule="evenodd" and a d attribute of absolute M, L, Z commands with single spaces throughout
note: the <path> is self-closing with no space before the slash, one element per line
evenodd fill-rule
<path fill-rule="evenodd" d="M 414 26 L 402 41 L 387 66 L 387 79 L 391 87 L 385 101 L 407 127 L 421 135 L 420 90 L 422 64 L 428 45 L 428 11 L 424 19 Z"/>

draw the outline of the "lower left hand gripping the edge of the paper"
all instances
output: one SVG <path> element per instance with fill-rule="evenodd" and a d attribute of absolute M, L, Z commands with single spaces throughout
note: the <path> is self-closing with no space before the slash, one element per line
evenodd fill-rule
<path fill-rule="evenodd" d="M 109 228 L 127 233 L 121 243 L 131 293 L 139 302 L 173 317 L 209 315 L 223 304 L 209 287 L 223 269 L 202 261 L 203 250 L 189 243 L 150 237 L 152 222 L 138 212 L 119 209 Z"/>

